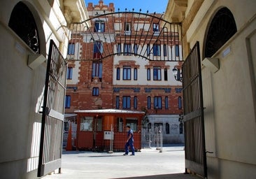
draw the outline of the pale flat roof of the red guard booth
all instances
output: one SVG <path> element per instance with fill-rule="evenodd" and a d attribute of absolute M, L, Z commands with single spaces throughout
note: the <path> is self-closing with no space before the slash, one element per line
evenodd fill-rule
<path fill-rule="evenodd" d="M 95 110 L 75 110 L 74 113 L 125 113 L 125 114 L 144 114 L 139 110 L 122 110 L 122 109 L 95 109 Z"/>

